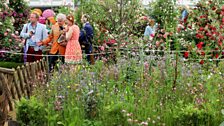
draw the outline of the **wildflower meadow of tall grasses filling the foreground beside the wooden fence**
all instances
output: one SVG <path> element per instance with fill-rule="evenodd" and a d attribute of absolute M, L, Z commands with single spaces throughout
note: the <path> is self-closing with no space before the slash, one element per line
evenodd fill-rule
<path fill-rule="evenodd" d="M 168 58 L 63 66 L 47 86 L 18 103 L 17 119 L 48 126 L 219 125 L 223 68 L 223 62 L 201 66 Z"/>

